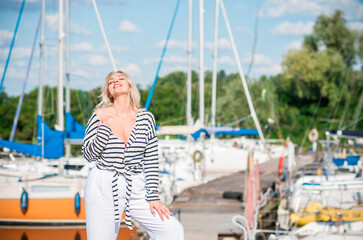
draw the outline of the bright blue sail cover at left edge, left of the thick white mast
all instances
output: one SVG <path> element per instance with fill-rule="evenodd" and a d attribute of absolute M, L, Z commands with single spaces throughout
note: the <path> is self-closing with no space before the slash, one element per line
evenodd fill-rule
<path fill-rule="evenodd" d="M 42 134 L 44 129 L 44 134 Z M 41 116 L 37 116 L 37 142 L 38 144 L 27 144 L 11 142 L 0 139 L 0 147 L 9 148 L 12 151 L 42 157 L 42 136 L 44 136 L 44 156 L 45 158 L 56 159 L 64 156 L 62 131 L 52 130 Z"/>

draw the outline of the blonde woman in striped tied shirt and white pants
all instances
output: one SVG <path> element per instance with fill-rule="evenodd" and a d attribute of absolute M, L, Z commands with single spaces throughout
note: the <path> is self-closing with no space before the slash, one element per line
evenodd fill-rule
<path fill-rule="evenodd" d="M 107 75 L 102 101 L 88 121 L 82 153 L 96 161 L 85 187 L 88 240 L 116 239 L 125 212 L 151 239 L 184 239 L 184 230 L 159 200 L 158 140 L 152 113 L 122 71 Z"/>

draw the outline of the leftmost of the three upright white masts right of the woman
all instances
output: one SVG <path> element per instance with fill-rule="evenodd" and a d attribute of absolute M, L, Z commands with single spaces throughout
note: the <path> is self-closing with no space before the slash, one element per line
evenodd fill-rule
<path fill-rule="evenodd" d="M 187 125 L 193 125 L 192 118 L 192 23 L 193 0 L 189 0 L 188 11 L 188 76 L 187 76 Z"/>

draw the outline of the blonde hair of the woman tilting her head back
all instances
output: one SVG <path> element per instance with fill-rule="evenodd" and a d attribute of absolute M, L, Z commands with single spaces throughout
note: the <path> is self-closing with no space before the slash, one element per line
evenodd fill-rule
<path fill-rule="evenodd" d="M 122 71 L 110 72 L 109 74 L 107 74 L 105 82 L 103 84 L 103 88 L 101 90 L 101 95 L 99 96 L 99 98 L 101 98 L 101 102 L 97 104 L 95 109 L 105 108 L 113 105 L 114 99 L 108 91 L 108 82 L 110 81 L 111 76 L 115 73 L 121 73 L 125 77 L 126 81 L 129 83 L 131 90 L 130 105 L 134 110 L 138 110 L 140 108 L 140 92 L 137 89 L 135 83 L 129 78 L 126 73 Z"/>

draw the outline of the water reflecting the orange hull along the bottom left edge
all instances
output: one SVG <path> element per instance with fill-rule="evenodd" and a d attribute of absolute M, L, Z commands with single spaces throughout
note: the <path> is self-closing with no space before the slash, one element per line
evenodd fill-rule
<path fill-rule="evenodd" d="M 121 227 L 118 240 L 139 240 L 136 233 Z M 86 240 L 86 226 L 70 227 L 14 227 L 0 226 L 1 240 Z"/>

